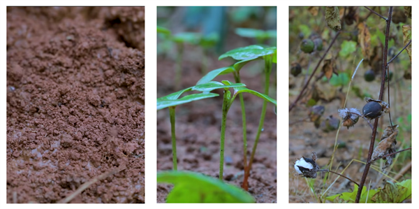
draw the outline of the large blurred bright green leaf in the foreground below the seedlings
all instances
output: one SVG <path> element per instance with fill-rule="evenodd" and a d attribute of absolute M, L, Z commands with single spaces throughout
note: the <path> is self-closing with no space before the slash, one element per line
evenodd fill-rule
<path fill-rule="evenodd" d="M 248 192 L 201 173 L 166 171 L 157 173 L 157 182 L 174 185 L 167 203 L 254 203 Z"/>

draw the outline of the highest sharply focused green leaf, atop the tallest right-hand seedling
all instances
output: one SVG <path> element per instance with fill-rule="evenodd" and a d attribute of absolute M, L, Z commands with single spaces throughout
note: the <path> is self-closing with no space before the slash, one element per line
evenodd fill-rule
<path fill-rule="evenodd" d="M 234 50 L 230 50 L 221 55 L 219 59 L 224 59 L 226 57 L 233 57 L 233 59 L 236 60 L 256 59 L 258 57 L 263 57 L 264 55 L 271 55 L 276 49 L 276 47 L 263 48 L 260 45 L 249 45 L 244 48 L 236 48 Z"/>

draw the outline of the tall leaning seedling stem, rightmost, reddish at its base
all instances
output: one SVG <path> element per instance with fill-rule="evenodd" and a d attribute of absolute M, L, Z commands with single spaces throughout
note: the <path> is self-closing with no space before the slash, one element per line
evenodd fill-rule
<path fill-rule="evenodd" d="M 269 55 L 268 55 L 269 56 Z M 264 94 L 269 94 L 269 82 L 270 82 L 270 72 L 272 70 L 272 57 L 263 57 L 265 59 L 265 90 Z M 256 139 L 255 143 L 253 143 L 253 150 L 251 150 L 251 156 L 249 160 L 249 166 L 247 166 L 247 172 L 244 172 L 244 176 L 249 177 L 250 170 L 251 170 L 251 164 L 253 163 L 253 157 L 256 153 L 256 147 L 258 147 L 258 142 L 260 138 L 260 133 L 263 129 L 263 122 L 265 122 L 265 114 L 266 114 L 266 106 L 267 101 L 263 100 L 263 106 L 262 106 L 262 113 L 260 113 L 260 120 L 259 120 L 259 127 L 258 127 L 258 133 L 256 133 Z"/>

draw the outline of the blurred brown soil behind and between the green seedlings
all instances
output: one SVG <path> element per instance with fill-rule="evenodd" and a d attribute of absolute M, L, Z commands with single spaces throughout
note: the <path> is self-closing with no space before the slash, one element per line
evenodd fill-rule
<path fill-rule="evenodd" d="M 232 41 L 234 42 L 234 41 Z M 228 42 L 229 43 L 229 42 Z M 243 46 L 243 45 L 241 45 Z M 232 45 L 228 50 L 232 49 Z M 200 64 L 200 49 L 188 48 L 185 50 L 182 66 L 182 87 L 191 87 L 202 78 Z M 198 58 L 198 59 L 195 59 Z M 198 60 L 198 61 L 197 61 Z M 231 60 L 218 61 L 218 57 L 210 57 L 208 69 L 218 69 L 232 64 Z M 255 65 L 256 64 L 256 65 Z M 157 64 L 157 96 L 166 96 L 175 92 L 175 62 L 158 57 Z M 240 71 L 242 82 L 250 89 L 263 92 L 263 61 L 244 66 Z M 276 65 L 271 75 L 270 96 L 276 96 L 275 84 Z M 234 81 L 233 75 L 221 75 L 216 81 Z M 276 85 L 275 85 L 276 86 Z M 176 136 L 178 170 L 195 171 L 218 178 L 219 175 L 219 140 L 221 130 L 221 90 L 215 90 L 217 96 L 186 103 L 176 108 Z M 251 94 L 244 94 L 247 113 L 248 160 L 251 148 L 258 129 L 260 112 L 263 100 Z M 223 179 L 233 185 L 241 187 L 243 181 L 243 143 L 242 143 L 242 112 L 240 100 L 237 97 L 235 104 L 228 112 L 225 142 L 225 166 Z M 168 171 L 172 169 L 172 145 L 170 134 L 169 111 L 167 109 L 157 112 L 157 170 Z M 157 202 L 165 202 L 166 196 L 172 186 L 157 186 Z M 265 117 L 264 131 L 260 135 L 257 152 L 253 161 L 251 176 L 249 178 L 249 192 L 258 203 L 277 202 L 277 115 L 274 107 L 268 104 Z"/>

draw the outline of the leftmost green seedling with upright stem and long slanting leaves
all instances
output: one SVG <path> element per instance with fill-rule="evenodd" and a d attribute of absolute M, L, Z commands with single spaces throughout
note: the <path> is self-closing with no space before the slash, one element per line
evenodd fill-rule
<path fill-rule="evenodd" d="M 214 96 L 219 96 L 219 94 L 210 93 L 214 89 L 220 89 L 220 88 L 228 88 L 228 87 L 244 87 L 244 84 L 236 83 L 233 85 L 223 85 L 221 82 L 207 82 L 201 85 L 196 85 L 193 87 L 189 87 L 186 89 L 183 89 L 179 92 L 175 92 L 172 94 L 169 94 L 167 96 L 163 96 L 159 99 L 157 99 L 157 110 L 161 110 L 163 108 L 169 108 L 170 113 L 170 127 L 171 127 L 171 133 L 172 133 L 172 159 L 173 159 L 173 170 L 177 171 L 177 154 L 176 154 L 176 131 L 175 131 L 175 108 L 176 106 L 179 106 L 183 103 L 189 103 L 191 101 L 197 101 L 200 99 L 207 99 Z M 200 94 L 190 94 L 187 96 L 184 96 L 182 98 L 179 98 L 182 94 L 189 91 L 199 91 L 203 92 Z"/>

